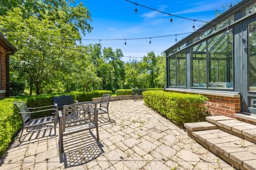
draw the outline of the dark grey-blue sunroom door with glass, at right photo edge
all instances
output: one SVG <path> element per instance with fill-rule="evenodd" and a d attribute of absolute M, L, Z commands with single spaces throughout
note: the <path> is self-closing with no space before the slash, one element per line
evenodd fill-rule
<path fill-rule="evenodd" d="M 242 24 L 242 111 L 256 115 L 256 18 Z"/>

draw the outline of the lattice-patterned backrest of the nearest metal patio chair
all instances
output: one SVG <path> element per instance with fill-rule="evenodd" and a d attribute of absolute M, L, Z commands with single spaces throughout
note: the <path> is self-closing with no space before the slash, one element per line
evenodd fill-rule
<path fill-rule="evenodd" d="M 98 122 L 97 102 L 82 102 L 72 105 L 63 106 L 64 129 Z"/>

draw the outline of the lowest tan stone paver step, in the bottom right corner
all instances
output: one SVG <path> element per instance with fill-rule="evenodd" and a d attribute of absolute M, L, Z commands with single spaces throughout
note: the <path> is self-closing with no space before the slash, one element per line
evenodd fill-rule
<path fill-rule="evenodd" d="M 236 169 L 256 170 L 256 145 L 219 129 L 188 131 L 190 137 Z"/>

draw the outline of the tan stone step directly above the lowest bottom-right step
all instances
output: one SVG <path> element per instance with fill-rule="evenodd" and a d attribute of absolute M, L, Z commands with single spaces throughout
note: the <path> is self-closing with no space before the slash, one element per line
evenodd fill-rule
<path fill-rule="evenodd" d="M 206 121 L 217 125 L 218 129 L 222 131 L 256 143 L 256 125 L 226 116 L 207 116 Z"/>

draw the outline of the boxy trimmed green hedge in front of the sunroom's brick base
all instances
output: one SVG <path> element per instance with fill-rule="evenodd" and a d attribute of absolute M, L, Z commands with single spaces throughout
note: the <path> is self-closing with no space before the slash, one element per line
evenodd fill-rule
<path fill-rule="evenodd" d="M 179 94 L 165 91 L 144 91 L 147 106 L 169 118 L 178 125 L 205 120 L 207 98 L 202 95 Z"/>

